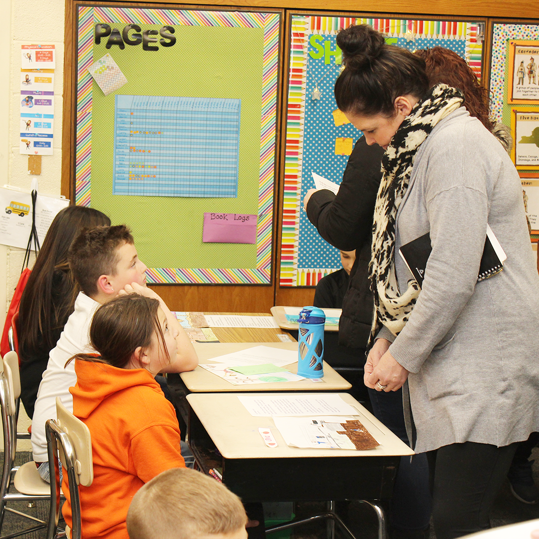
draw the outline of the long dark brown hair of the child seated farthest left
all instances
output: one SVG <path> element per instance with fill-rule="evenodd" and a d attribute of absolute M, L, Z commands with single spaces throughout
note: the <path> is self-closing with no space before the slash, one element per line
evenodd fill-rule
<path fill-rule="evenodd" d="M 82 229 L 99 225 L 110 225 L 110 219 L 84 206 L 68 206 L 54 217 L 20 298 L 22 360 L 43 356 L 56 346 L 79 292 L 67 264 L 67 251 Z"/>

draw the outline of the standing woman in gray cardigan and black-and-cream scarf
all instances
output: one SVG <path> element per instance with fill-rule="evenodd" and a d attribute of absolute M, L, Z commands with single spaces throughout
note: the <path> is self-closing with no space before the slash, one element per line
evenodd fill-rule
<path fill-rule="evenodd" d="M 520 178 L 460 91 L 429 89 L 423 60 L 364 25 L 337 43 L 346 65 L 337 106 L 386 150 L 365 384 L 395 391 L 407 382 L 410 439 L 431 464 L 437 538 L 459 537 L 489 527 L 515 443 L 539 427 L 539 276 Z M 487 223 L 507 260 L 477 282 Z M 432 252 L 419 289 L 395 253 L 426 233 Z"/>

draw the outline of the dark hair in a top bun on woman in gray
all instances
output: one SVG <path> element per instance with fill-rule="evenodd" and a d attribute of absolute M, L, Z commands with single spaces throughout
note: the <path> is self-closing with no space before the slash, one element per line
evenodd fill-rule
<path fill-rule="evenodd" d="M 429 91 L 425 61 L 386 44 L 384 36 L 367 24 L 341 30 L 337 45 L 345 69 L 335 83 L 335 99 L 344 113 L 392 118 L 399 95 L 421 100 Z"/>

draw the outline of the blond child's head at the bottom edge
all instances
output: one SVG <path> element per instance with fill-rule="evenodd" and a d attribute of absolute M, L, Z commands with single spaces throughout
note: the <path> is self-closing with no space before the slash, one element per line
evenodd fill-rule
<path fill-rule="evenodd" d="M 240 499 L 222 483 L 189 468 L 148 481 L 127 513 L 130 539 L 246 539 Z"/>

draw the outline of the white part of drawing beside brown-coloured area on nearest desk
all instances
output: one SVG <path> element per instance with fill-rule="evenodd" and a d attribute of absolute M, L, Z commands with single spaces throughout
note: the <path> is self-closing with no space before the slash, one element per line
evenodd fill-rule
<path fill-rule="evenodd" d="M 321 449 L 352 449 L 356 446 L 343 431 L 341 423 L 353 417 L 274 417 L 273 421 L 287 445 Z"/>

